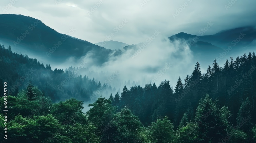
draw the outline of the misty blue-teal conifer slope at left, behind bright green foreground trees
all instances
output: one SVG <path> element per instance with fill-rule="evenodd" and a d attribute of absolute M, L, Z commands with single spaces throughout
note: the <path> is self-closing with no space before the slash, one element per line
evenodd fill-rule
<path fill-rule="evenodd" d="M 8 92 L 14 96 L 20 89 L 26 88 L 29 80 L 54 102 L 72 97 L 91 101 L 100 96 L 92 96 L 96 90 L 102 89 L 100 91 L 104 93 L 113 91 L 110 85 L 101 85 L 94 78 L 78 75 L 78 69 L 51 69 L 50 64 L 41 64 L 36 58 L 12 53 L 10 46 L 5 48 L 0 45 L 0 67 L 0 84 L 7 82 L 11 85 Z M 0 91 L 3 93 L 2 88 Z"/>

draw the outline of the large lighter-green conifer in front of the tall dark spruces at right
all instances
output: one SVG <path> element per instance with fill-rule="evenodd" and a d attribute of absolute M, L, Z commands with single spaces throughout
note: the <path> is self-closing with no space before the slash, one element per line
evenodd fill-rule
<path fill-rule="evenodd" d="M 199 123 L 200 138 L 205 142 L 220 141 L 222 137 L 226 136 L 229 129 L 227 120 L 231 113 L 225 106 L 219 109 L 217 103 L 218 100 L 213 102 L 209 95 L 206 95 L 199 101 L 197 107 L 195 121 Z"/>

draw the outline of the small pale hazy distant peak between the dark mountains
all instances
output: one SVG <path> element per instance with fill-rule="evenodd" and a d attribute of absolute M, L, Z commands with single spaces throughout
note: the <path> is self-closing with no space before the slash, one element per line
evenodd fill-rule
<path fill-rule="evenodd" d="M 118 50 L 118 49 L 122 49 L 125 46 L 128 46 L 128 44 L 126 43 L 122 43 L 122 42 L 118 42 L 118 41 L 106 41 L 106 42 L 99 42 L 99 43 L 95 43 L 95 45 L 104 47 L 106 49 L 110 49 L 110 50 Z"/>

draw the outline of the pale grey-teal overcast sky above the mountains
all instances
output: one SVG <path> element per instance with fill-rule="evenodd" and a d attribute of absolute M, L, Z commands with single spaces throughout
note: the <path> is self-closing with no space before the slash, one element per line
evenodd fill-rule
<path fill-rule="evenodd" d="M 11 1 L 15 3 L 6 8 Z M 180 32 L 198 35 L 207 22 L 212 22 L 214 25 L 204 33 L 211 35 L 256 23 L 254 0 L 5 0 L 0 5 L 2 14 L 41 18 L 44 24 L 65 34 L 74 28 L 71 36 L 91 43 L 102 42 L 111 33 L 114 36 L 109 36 L 110 40 L 137 44 L 145 42 L 155 30 L 166 37 Z M 114 29 L 117 26 L 121 28 Z"/>

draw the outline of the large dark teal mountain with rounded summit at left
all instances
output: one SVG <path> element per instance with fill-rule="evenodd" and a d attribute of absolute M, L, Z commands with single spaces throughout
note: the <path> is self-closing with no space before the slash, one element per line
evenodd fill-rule
<path fill-rule="evenodd" d="M 94 63 L 107 61 L 112 50 L 88 41 L 61 34 L 46 26 L 41 20 L 16 14 L 0 15 L 0 41 L 8 43 L 13 50 L 25 51 L 38 58 L 63 62 L 69 58 L 79 60 L 90 54 Z M 70 33 L 75 29 L 70 28 Z"/>

